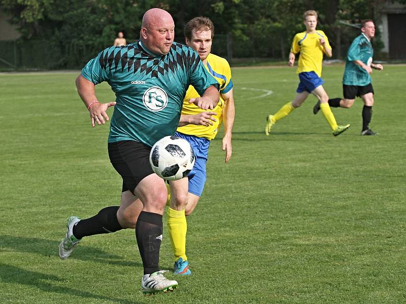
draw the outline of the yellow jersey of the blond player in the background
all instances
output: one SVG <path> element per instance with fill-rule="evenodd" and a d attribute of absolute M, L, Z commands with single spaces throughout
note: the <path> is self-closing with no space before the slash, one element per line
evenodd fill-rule
<path fill-rule="evenodd" d="M 296 73 L 315 71 L 321 77 L 324 50 L 320 39 L 324 39 L 326 48 L 331 49 L 328 38 L 322 30 L 316 30 L 313 34 L 304 31 L 294 36 L 290 51 L 294 54 L 300 52 Z"/>

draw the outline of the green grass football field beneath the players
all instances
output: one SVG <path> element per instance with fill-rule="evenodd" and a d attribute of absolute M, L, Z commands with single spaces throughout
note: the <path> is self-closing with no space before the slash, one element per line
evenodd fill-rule
<path fill-rule="evenodd" d="M 343 69 L 323 70 L 331 97 L 342 95 Z M 266 137 L 266 115 L 295 94 L 294 69 L 233 69 L 233 155 L 223 163 L 220 133 L 188 218 L 193 275 L 151 297 L 141 293 L 132 230 L 85 238 L 70 259 L 58 257 L 66 217 L 118 205 L 121 192 L 108 126 L 90 127 L 76 75 L 0 75 L 0 302 L 406 302 L 404 66 L 373 73 L 371 127 L 380 135 L 359 135 L 357 100 L 333 109 L 337 122 L 352 124 L 336 138 L 313 115 L 315 97 Z M 114 100 L 107 84 L 97 93 Z M 173 267 L 166 226 L 160 265 Z"/>

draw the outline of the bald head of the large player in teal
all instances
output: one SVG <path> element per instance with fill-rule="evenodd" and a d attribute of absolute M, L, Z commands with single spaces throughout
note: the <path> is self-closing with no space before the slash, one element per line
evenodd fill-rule
<path fill-rule="evenodd" d="M 161 9 L 150 9 L 143 17 L 140 39 L 145 47 L 157 55 L 171 50 L 175 36 L 175 23 L 170 13 Z"/>

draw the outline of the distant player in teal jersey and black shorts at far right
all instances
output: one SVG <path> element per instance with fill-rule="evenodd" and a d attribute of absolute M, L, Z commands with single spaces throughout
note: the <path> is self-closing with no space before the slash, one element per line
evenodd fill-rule
<path fill-rule="evenodd" d="M 355 97 L 361 97 L 364 102 L 362 108 L 362 130 L 361 135 L 376 135 L 369 129 L 372 117 L 372 106 L 374 105 L 374 88 L 370 74 L 372 69 L 382 70 L 382 64 L 372 62 L 374 49 L 371 39 L 375 36 L 375 25 L 373 20 L 364 20 L 361 23 L 361 34 L 352 42 L 348 53 L 346 68 L 343 77 L 342 98 L 332 98 L 328 100 L 331 107 L 350 108 L 354 104 Z M 317 114 L 320 110 L 320 101 L 316 103 L 313 112 Z"/>

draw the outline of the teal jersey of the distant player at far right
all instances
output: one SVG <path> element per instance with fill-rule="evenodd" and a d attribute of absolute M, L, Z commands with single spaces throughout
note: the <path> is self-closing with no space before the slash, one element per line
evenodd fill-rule
<path fill-rule="evenodd" d="M 362 87 L 369 85 L 372 81 L 370 75 L 362 67 L 355 64 L 354 60 L 361 60 L 364 64 L 370 66 L 373 56 L 374 49 L 371 42 L 364 34 L 357 36 L 347 53 L 343 84 Z"/>

